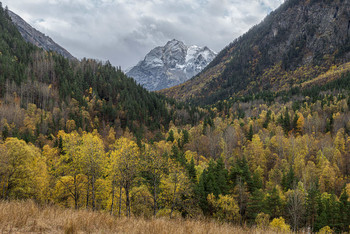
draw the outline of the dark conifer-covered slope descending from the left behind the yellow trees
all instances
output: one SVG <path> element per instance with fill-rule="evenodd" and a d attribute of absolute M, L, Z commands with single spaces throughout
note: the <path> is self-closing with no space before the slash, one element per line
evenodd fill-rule
<path fill-rule="evenodd" d="M 1 130 L 5 122 L 13 124 L 6 130 L 9 136 L 35 142 L 39 135 L 50 136 L 61 129 L 113 126 L 138 132 L 140 137 L 145 129 L 168 128 L 175 121 L 174 102 L 148 92 L 120 68 L 44 51 L 22 38 L 7 10 L 1 8 L 0 14 L 0 121 Z M 29 121 L 23 112 L 33 104 L 32 114 L 38 116 Z"/>

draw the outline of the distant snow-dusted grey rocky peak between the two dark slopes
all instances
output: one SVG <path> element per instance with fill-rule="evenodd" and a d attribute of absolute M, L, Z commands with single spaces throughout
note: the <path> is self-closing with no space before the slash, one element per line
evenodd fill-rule
<path fill-rule="evenodd" d="M 160 90 L 192 78 L 215 56 L 216 53 L 207 47 L 186 46 L 174 39 L 149 52 L 127 75 L 148 90 Z"/>

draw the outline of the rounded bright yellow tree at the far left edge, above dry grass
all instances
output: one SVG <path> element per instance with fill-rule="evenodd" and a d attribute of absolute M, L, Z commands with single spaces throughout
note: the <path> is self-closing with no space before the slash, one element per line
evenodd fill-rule
<path fill-rule="evenodd" d="M 0 191 L 2 199 L 46 200 L 48 174 L 38 148 L 17 138 L 0 145 Z"/>

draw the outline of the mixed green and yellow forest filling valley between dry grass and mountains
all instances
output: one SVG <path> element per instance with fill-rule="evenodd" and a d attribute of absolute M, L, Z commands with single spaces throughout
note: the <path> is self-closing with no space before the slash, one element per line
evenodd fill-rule
<path fill-rule="evenodd" d="M 349 232 L 349 81 L 194 106 L 25 42 L 1 6 L 0 199 Z"/>

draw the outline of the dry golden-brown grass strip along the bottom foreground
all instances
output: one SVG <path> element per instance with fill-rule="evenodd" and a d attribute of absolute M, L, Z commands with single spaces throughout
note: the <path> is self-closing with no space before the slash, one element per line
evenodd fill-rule
<path fill-rule="evenodd" d="M 1 233 L 271 233 L 200 220 L 116 218 L 105 212 L 0 202 Z"/>

